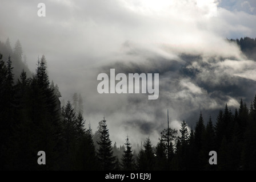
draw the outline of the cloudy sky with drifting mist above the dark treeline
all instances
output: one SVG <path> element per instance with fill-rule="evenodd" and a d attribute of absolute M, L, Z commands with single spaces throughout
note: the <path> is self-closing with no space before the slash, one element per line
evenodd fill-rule
<path fill-rule="evenodd" d="M 40 2 L 46 17 L 37 15 Z M 146 137 L 155 144 L 167 109 L 179 129 L 183 119 L 194 127 L 201 110 L 206 124 L 225 103 L 253 99 L 255 61 L 225 39 L 256 38 L 255 22 L 253 0 L 2 0 L 0 40 L 19 39 L 31 71 L 45 55 L 61 100 L 82 94 L 93 132 L 105 114 L 113 143 L 128 134 L 134 144 Z M 97 75 L 110 68 L 159 73 L 158 100 L 98 94 Z"/>

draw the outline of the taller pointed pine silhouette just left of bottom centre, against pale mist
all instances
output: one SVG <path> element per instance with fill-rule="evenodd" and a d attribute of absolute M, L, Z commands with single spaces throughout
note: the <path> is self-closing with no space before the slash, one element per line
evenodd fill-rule
<path fill-rule="evenodd" d="M 111 147 L 111 140 L 109 138 L 109 129 L 107 129 L 106 120 L 103 119 L 102 131 L 100 131 L 101 137 L 97 156 L 101 163 L 103 170 L 113 170 L 115 168 L 115 156 L 113 156 L 113 150 Z"/>

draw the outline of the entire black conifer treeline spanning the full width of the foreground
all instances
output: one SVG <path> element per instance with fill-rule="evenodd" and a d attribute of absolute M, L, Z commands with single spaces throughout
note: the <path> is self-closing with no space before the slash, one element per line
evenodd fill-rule
<path fill-rule="evenodd" d="M 166 127 L 156 146 L 147 138 L 134 149 L 127 136 L 117 148 L 105 118 L 95 134 L 85 128 L 80 95 L 61 107 L 45 56 L 31 76 L 23 69 L 16 77 L 11 55 L 0 54 L 1 170 L 256 169 L 256 96 L 249 107 L 241 100 L 233 112 L 225 105 L 215 122 L 200 113 L 191 130 L 185 121 L 179 131 Z M 37 163 L 38 151 L 45 151 L 46 165 Z M 210 151 L 217 152 L 217 165 L 209 164 Z"/>

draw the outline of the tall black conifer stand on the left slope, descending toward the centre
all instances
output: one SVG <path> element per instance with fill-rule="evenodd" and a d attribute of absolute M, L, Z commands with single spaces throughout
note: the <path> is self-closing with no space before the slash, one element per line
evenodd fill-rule
<path fill-rule="evenodd" d="M 22 71 L 14 83 L 11 57 L 0 56 L 0 165 L 7 170 L 96 170 L 98 159 L 90 129 L 70 101 L 61 107 L 50 84 L 45 56 L 33 76 Z M 46 165 L 38 165 L 45 151 Z"/>

